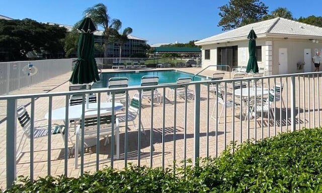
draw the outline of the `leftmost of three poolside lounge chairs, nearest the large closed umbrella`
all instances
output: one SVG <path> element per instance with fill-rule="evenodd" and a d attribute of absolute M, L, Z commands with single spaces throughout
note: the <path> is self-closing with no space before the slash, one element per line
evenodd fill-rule
<path fill-rule="evenodd" d="M 128 78 L 127 77 L 112 77 L 108 81 L 108 88 L 126 88 L 128 87 Z M 126 91 L 117 91 L 114 94 L 114 102 L 120 102 L 125 105 L 126 103 Z M 106 95 L 106 101 L 112 101 L 112 93 L 108 92 Z"/>

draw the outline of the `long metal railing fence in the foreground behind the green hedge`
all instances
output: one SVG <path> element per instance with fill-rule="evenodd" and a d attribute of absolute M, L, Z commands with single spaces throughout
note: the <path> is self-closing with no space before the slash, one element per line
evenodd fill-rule
<path fill-rule="evenodd" d="M 197 163 L 200 157 L 219 156 L 230 142 L 238 145 L 249 139 L 260 140 L 302 127 L 320 126 L 321 75 L 302 73 L 180 85 L 0 96 L 0 100 L 7 102 L 7 109 L 4 109 L 7 116 L 6 154 L 1 158 L 6 159 L 7 175 L 0 175 L 9 187 L 17 175 L 28 175 L 31 179 L 61 174 L 77 177 L 86 171 L 102 169 L 104 165 L 122 169 L 130 162 L 149 167 L 176 167 L 182 160 L 192 159 Z M 152 89 L 151 95 L 142 97 L 143 89 L 144 92 Z M 153 89 L 157 89 L 158 94 Z M 75 136 L 78 135 L 72 125 L 76 120 L 71 121 L 69 117 L 75 108 L 69 106 L 70 95 L 81 95 L 85 100 L 86 94 L 95 93 L 97 105 L 103 109 L 106 93 L 122 91 L 128 97 L 122 110 L 110 112 L 114 118 L 111 120 L 109 144 L 105 146 L 105 139 L 95 138 L 100 134 L 96 132 L 93 135 L 94 147 L 84 147 L 82 144 L 88 137 L 81 133 L 78 145 L 82 148 L 79 153 L 75 151 Z M 134 95 L 138 96 L 138 104 L 141 104 L 137 105 L 135 125 L 131 121 L 133 114 L 129 114 Z M 30 112 L 32 126 L 29 132 L 33 133 L 36 119 L 46 117 L 43 123 L 49 128 L 54 123 L 67 123 L 64 133 L 69 136 L 64 135 L 63 143 L 60 135 L 48 135 L 41 140 L 31 135 L 29 143 L 23 147 L 22 157 L 17 159 L 17 143 L 29 132 L 23 133 L 22 127 L 17 125 L 16 109 L 17 104 L 28 101 L 26 108 Z M 111 109 L 116 109 L 115 97 L 112 97 L 110 105 Z M 66 115 L 57 120 L 54 111 L 63 107 L 67 108 L 60 113 Z M 76 124 L 84 129 L 85 113 L 89 110 L 84 103 L 78 107 L 81 109 L 78 112 L 81 124 L 77 121 Z M 91 113 L 101 117 L 102 111 Z M 115 122 L 122 113 L 125 113 L 125 118 Z M 74 167 L 74 157 L 81 163 L 79 167 Z"/>

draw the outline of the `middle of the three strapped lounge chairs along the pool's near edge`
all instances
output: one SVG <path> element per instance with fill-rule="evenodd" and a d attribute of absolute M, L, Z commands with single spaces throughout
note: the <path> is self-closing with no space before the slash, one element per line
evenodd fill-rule
<path fill-rule="evenodd" d="M 158 81 L 158 76 L 145 75 L 141 78 L 141 86 L 156 86 L 158 85 Z M 153 99 L 156 99 L 156 101 L 160 104 L 161 95 L 157 92 L 157 89 L 142 89 L 141 98 L 151 101 L 151 92 L 153 92 Z M 134 97 L 139 98 L 139 92 L 136 92 Z"/>

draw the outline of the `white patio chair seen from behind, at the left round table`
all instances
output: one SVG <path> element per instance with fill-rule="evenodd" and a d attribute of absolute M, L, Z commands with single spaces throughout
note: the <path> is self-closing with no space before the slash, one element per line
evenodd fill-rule
<path fill-rule="evenodd" d="M 104 146 L 109 142 L 108 136 L 112 135 L 112 115 L 108 114 L 101 114 L 100 116 L 100 137 L 105 138 Z M 98 125 L 98 117 L 97 115 L 86 115 L 85 112 L 85 119 L 84 119 L 84 128 L 82 129 L 82 117 L 79 120 L 79 124 L 76 127 L 76 134 L 75 134 L 75 169 L 78 167 L 78 153 L 81 151 L 82 146 L 82 132 L 84 131 L 84 149 L 95 146 L 95 144 L 89 144 L 86 142 L 86 139 L 89 138 L 96 138 L 97 137 L 97 125 Z M 114 136 L 116 138 L 116 159 L 120 158 L 120 131 L 119 131 L 119 121 L 118 118 L 114 119 Z M 111 144 L 111 148 L 113 145 Z M 111 155 L 113 157 L 114 155 Z"/>

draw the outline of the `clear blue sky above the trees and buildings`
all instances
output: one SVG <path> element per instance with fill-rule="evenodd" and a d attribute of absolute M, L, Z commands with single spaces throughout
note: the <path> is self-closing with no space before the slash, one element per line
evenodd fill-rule
<path fill-rule="evenodd" d="M 132 35 L 146 39 L 148 44 L 187 43 L 221 33 L 218 7 L 228 0 L 3 0 L 0 15 L 14 19 L 30 18 L 38 22 L 74 25 L 84 10 L 103 3 L 111 18 L 120 19 L 122 28 L 131 27 Z M 321 16 L 319 1 L 263 0 L 269 12 L 287 8 L 293 17 Z"/>

